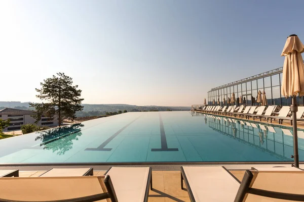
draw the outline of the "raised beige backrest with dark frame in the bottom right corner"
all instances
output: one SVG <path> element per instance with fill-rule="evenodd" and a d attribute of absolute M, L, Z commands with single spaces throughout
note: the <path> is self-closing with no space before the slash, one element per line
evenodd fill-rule
<path fill-rule="evenodd" d="M 304 201 L 302 180 L 304 172 L 299 171 L 247 170 L 234 201 Z"/>

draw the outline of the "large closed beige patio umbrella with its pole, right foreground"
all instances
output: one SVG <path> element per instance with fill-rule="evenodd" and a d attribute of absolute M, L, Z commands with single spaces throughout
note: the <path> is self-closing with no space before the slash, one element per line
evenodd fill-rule
<path fill-rule="evenodd" d="M 304 95 L 304 64 L 301 53 L 304 52 L 304 45 L 297 35 L 292 34 L 287 37 L 281 56 L 285 56 L 283 66 L 283 79 L 281 94 L 286 98 L 291 96 L 290 111 L 292 113 L 293 125 L 293 157 L 294 166 L 299 167 L 297 123 L 296 123 L 296 94 Z"/>

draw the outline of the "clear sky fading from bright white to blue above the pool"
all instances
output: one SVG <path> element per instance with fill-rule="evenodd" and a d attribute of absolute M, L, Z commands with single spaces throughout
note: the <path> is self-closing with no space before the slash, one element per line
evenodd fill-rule
<path fill-rule="evenodd" d="M 0 1 L 1 101 L 71 76 L 84 103 L 189 106 L 283 66 L 304 1 Z"/>

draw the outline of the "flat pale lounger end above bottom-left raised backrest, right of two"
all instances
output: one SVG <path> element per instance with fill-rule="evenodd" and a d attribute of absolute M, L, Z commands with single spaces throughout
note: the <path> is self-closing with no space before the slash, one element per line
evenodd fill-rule
<path fill-rule="evenodd" d="M 76 177 L 93 175 L 93 168 L 52 168 L 39 177 Z"/>

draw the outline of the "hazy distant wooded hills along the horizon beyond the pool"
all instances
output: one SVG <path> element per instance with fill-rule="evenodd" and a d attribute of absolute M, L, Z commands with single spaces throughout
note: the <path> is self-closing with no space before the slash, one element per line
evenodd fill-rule
<path fill-rule="evenodd" d="M 88 117 L 88 116 L 102 116 L 106 115 L 107 112 L 118 112 L 127 110 L 128 112 L 143 112 L 143 111 L 188 111 L 191 107 L 170 107 L 170 106 L 136 106 L 136 105 L 125 105 L 125 104 L 83 104 L 84 110 L 77 112 L 77 117 Z M 29 108 L 29 103 L 21 102 L 0 102 L 0 110 L 6 107 L 22 109 L 22 110 L 33 110 Z"/>

